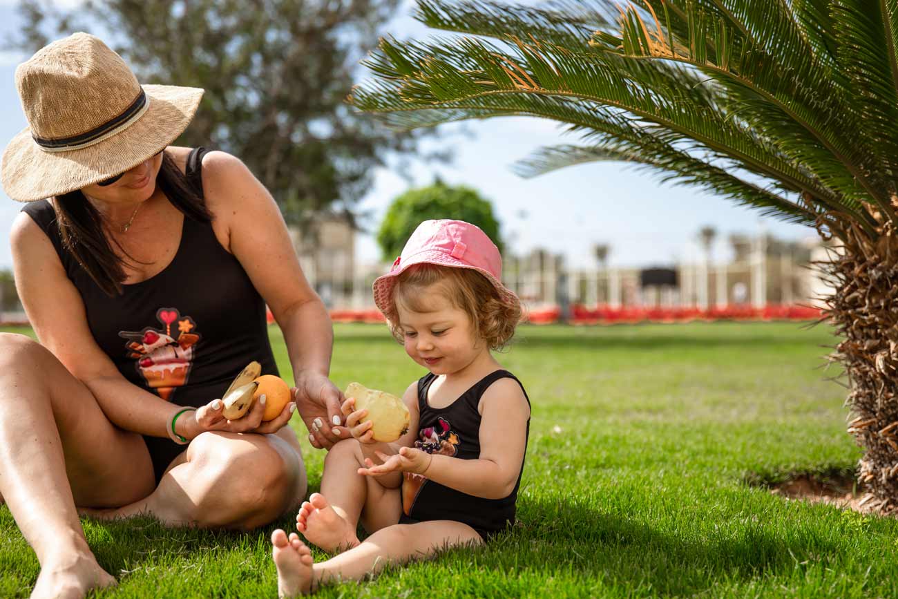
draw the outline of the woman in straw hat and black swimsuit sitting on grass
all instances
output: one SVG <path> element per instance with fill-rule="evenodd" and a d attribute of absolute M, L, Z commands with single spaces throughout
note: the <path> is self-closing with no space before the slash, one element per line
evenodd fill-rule
<path fill-rule="evenodd" d="M 330 320 L 274 200 L 236 158 L 169 145 L 202 90 L 141 86 L 84 33 L 42 48 L 16 84 L 30 127 L 2 175 L 29 202 L 11 238 L 40 344 L 0 336 L 0 495 L 40 560 L 32 596 L 80 597 L 115 580 L 78 508 L 267 524 L 306 489 L 287 421 L 298 408 L 329 448 L 346 436 L 329 426 L 342 398 L 328 380 Z M 228 421 L 216 398 L 243 366 L 277 374 L 265 304 L 295 404 L 261 422 L 257 402 Z"/>

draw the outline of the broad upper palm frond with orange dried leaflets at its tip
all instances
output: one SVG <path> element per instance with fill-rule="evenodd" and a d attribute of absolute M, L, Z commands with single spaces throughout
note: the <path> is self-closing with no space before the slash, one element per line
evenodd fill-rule
<path fill-rule="evenodd" d="M 815 172 L 827 186 L 858 201 L 875 203 L 894 218 L 888 194 L 864 168 L 870 154 L 867 144 L 857 134 L 850 136 L 860 130 L 861 121 L 841 88 L 831 77 L 817 72 L 809 57 L 779 67 L 766 49 L 740 38 L 744 25 L 740 28 L 705 18 L 707 2 L 698 0 L 684 8 L 689 21 L 689 37 L 684 40 L 665 35 L 660 23 L 650 29 L 630 7 L 621 18 L 621 37 L 600 31 L 594 43 L 625 57 L 664 58 L 700 69 L 739 101 L 735 110 L 741 118 L 778 139 L 784 153 L 798 162 L 819 166 Z M 776 3 L 771 0 L 771 4 Z M 704 52 L 707 40 L 717 48 L 720 64 L 711 62 Z"/>

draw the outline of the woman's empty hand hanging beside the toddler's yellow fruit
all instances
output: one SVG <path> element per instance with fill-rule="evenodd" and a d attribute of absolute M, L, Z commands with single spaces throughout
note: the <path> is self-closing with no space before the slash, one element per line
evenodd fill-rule
<path fill-rule="evenodd" d="M 340 439 L 347 438 L 339 428 L 343 424 L 340 403 L 343 392 L 324 374 L 309 370 L 296 373 L 292 390 L 296 408 L 309 429 L 309 441 L 318 449 L 330 449 Z"/>

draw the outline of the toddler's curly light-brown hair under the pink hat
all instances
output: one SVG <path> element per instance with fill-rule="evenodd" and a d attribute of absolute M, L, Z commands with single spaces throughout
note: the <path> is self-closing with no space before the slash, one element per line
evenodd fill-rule
<path fill-rule="evenodd" d="M 467 313 L 474 338 L 483 339 L 490 349 L 505 348 L 515 335 L 523 310 L 516 295 L 503 301 L 496 286 L 475 269 L 459 269 L 436 264 L 415 264 L 401 272 L 392 286 L 389 309 L 385 311 L 393 338 L 404 340 L 396 304 L 413 312 L 427 312 L 424 295 L 427 287 L 443 286 L 446 298 L 454 307 Z"/>

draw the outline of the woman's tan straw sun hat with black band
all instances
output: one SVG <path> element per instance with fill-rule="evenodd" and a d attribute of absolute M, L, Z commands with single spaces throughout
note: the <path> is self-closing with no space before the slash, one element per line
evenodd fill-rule
<path fill-rule="evenodd" d="M 203 90 L 141 85 L 101 40 L 75 33 L 15 70 L 29 127 L 3 154 L 3 187 L 20 202 L 82 189 L 133 169 L 171 144 Z"/>

